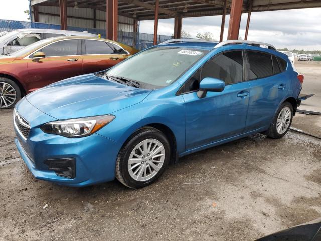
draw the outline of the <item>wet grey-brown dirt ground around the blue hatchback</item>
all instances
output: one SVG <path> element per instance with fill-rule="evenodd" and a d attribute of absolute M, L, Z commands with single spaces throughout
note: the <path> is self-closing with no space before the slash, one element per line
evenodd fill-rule
<path fill-rule="evenodd" d="M 143 189 L 69 188 L 31 175 L 11 119 L 0 110 L 0 240 L 254 240 L 321 216 L 318 138 L 256 134 L 181 158 Z M 311 123 L 321 116 L 293 125 Z"/>

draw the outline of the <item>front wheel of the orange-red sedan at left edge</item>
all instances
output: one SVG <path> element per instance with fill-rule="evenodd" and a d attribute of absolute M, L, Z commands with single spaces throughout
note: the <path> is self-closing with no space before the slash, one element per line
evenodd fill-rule
<path fill-rule="evenodd" d="M 0 77 L 0 109 L 10 109 L 21 99 L 18 85 L 8 78 Z"/>

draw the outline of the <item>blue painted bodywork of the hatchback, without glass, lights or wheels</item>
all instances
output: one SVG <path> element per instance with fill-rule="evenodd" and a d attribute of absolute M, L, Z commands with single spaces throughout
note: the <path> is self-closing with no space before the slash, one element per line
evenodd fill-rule
<path fill-rule="evenodd" d="M 285 54 L 274 50 L 248 45 L 213 48 L 215 45 L 196 42 L 162 45 L 210 50 L 176 82 L 162 89 L 136 89 L 89 74 L 29 94 L 16 105 L 16 110 L 30 122 L 30 134 L 25 140 L 16 131 L 15 139 L 28 168 L 36 178 L 81 187 L 113 180 L 119 150 L 132 133 L 146 125 L 163 125 L 171 130 L 180 157 L 266 130 L 278 106 L 287 98 L 298 97 L 301 85 L 297 72 Z M 208 92 L 203 99 L 196 92 L 176 95 L 204 63 L 233 49 L 269 52 L 286 60 L 288 69 L 269 77 L 270 83 L 261 83 L 263 87 L 255 82 L 261 80 L 255 80 L 227 85 L 223 92 Z M 286 85 L 284 91 L 276 90 L 280 83 Z M 244 96 L 237 97 L 240 92 Z M 87 137 L 67 138 L 40 130 L 43 124 L 57 119 L 104 114 L 116 118 Z M 76 158 L 74 179 L 57 176 L 43 163 L 46 159 L 68 157 Z"/>

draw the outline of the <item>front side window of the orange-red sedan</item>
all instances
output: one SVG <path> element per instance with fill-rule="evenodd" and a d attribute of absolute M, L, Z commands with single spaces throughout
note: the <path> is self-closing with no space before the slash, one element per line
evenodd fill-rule
<path fill-rule="evenodd" d="M 46 54 L 46 57 L 77 55 L 78 40 L 71 39 L 58 41 L 38 51 L 44 52 Z"/>

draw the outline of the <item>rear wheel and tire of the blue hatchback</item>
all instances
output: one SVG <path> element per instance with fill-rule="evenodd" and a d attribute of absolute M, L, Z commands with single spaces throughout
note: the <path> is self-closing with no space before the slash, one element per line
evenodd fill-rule
<path fill-rule="evenodd" d="M 293 106 L 289 102 L 284 102 L 276 111 L 269 129 L 266 131 L 266 135 L 271 138 L 283 137 L 289 130 L 292 119 Z"/>

